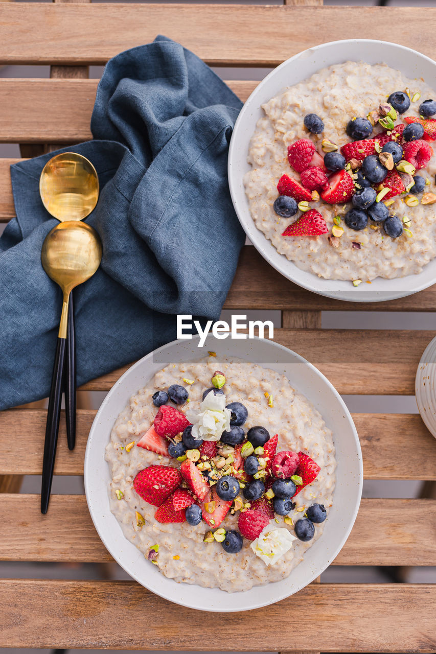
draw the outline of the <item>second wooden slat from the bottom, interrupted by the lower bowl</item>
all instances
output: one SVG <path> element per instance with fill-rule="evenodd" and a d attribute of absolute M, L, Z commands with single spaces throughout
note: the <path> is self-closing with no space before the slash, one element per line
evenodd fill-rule
<path fill-rule="evenodd" d="M 0 560 L 111 560 L 83 495 L 53 495 L 47 515 L 39 495 L 4 494 Z M 73 528 L 72 528 L 73 527 Z M 363 499 L 335 565 L 436 565 L 436 500 Z"/>

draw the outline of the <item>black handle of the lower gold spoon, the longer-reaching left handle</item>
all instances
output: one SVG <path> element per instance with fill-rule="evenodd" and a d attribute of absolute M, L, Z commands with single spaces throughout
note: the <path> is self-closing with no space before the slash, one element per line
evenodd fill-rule
<path fill-rule="evenodd" d="M 47 424 L 45 428 L 43 482 L 41 485 L 41 513 L 47 512 L 48 500 L 50 500 L 50 490 L 52 488 L 54 458 L 56 456 L 56 445 L 58 443 L 64 362 L 65 338 L 58 338 L 56 354 L 54 355 L 52 387 L 50 388 Z"/>

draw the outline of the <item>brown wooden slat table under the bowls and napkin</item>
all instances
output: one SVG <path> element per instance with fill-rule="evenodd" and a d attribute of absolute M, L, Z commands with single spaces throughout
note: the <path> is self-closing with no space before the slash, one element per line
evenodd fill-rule
<path fill-rule="evenodd" d="M 20 143 L 26 157 L 89 139 L 97 82 L 88 79 L 88 65 L 105 63 L 158 33 L 210 64 L 245 67 L 242 80 L 228 82 L 243 100 L 257 84 L 249 67 L 277 65 L 325 41 L 385 39 L 388 25 L 397 43 L 436 58 L 436 9 L 321 5 L 322 0 L 289 0 L 273 7 L 1 3 L 0 65 L 50 64 L 51 73 L 50 79 L 0 78 L 0 142 Z M 0 159 L 0 222 L 14 216 L 9 173 L 14 161 Z M 420 355 L 436 335 L 436 322 L 433 331 L 321 329 L 325 310 L 435 312 L 436 285 L 391 302 L 342 303 L 288 282 L 250 246 L 242 251 L 225 308 L 282 311 L 276 341 L 308 358 L 343 394 L 413 395 Z M 81 390 L 107 391 L 124 370 Z M 61 421 L 56 475 L 82 475 L 94 415 L 94 410 L 79 409 L 72 453 Z M 45 420 L 41 408 L 0 413 L 0 560 L 107 563 L 111 557 L 84 496 L 54 495 L 48 515 L 42 516 L 39 497 L 18 492 L 21 475 L 41 473 Z M 354 421 L 365 479 L 435 481 L 436 444 L 418 415 L 358 413 Z M 364 499 L 334 565 L 436 565 L 436 500 Z M 312 583 L 266 610 L 218 616 L 225 628 L 213 631 L 213 641 L 205 640 L 204 625 L 213 625 L 216 615 L 177 608 L 134 582 L 3 579 L 0 606 L 0 647 L 436 649 L 431 584 Z"/>

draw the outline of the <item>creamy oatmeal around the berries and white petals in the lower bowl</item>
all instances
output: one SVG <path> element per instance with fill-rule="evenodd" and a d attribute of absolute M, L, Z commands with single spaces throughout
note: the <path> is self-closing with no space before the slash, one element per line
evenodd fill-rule
<path fill-rule="evenodd" d="M 274 557 L 274 560 L 273 553 L 269 554 L 272 559 L 268 561 L 270 565 L 266 564 L 268 557 L 261 558 L 259 550 L 256 555 L 256 543 L 253 547 L 253 543 L 246 538 L 237 553 L 227 553 L 223 545 L 213 538 L 212 542 L 204 542 L 205 535 L 214 531 L 213 526 L 204 520 L 196 526 L 187 522 L 159 523 L 154 518 L 156 506 L 145 502 L 133 487 L 137 473 L 147 466 L 181 466 L 175 458 L 158 455 L 137 447 L 136 444 L 133 447 L 131 445 L 132 442 L 137 443 L 143 432 L 147 432 L 153 424 L 158 411 L 152 402 L 153 394 L 156 390 L 166 390 L 173 384 L 183 385 L 189 391 L 189 404 L 179 409 L 188 416 L 196 415 L 200 413 L 204 390 L 211 387 L 211 377 L 215 370 L 222 371 L 226 378 L 223 386 L 225 402 L 240 402 L 248 411 L 247 421 L 243 425 L 244 432 L 261 425 L 268 430 L 270 436 L 278 434 L 277 451 L 302 451 L 321 468 L 318 477 L 293 498 L 295 506 L 289 515 L 276 514 L 264 530 L 285 529 L 286 538 L 281 538 L 280 544 L 291 542 L 290 548 L 283 555 Z M 190 382 L 189 385 L 187 381 Z M 303 517 L 304 510 L 314 503 L 325 506 L 328 515 L 335 488 L 333 436 L 315 407 L 296 392 L 280 373 L 238 359 L 209 356 L 202 360 L 170 364 L 156 373 L 144 388 L 130 398 L 118 416 L 105 458 L 112 478 L 109 485 L 111 511 L 117 517 L 126 538 L 148 558 L 150 548 L 158 545 L 154 564 L 167 577 L 177 582 L 219 587 L 228 592 L 246 591 L 253 585 L 263 585 L 289 576 L 302 560 L 306 549 L 321 536 L 325 524 L 315 525 L 314 538 L 302 542 L 295 538 L 289 518 L 295 523 Z M 240 481 L 242 483 L 242 479 Z M 243 500 L 247 502 L 244 498 Z M 137 525 L 136 512 L 143 517 L 143 524 Z M 223 523 L 216 526 L 225 530 L 238 530 L 239 515 L 240 511 L 232 508 Z M 274 546 L 274 534 L 272 542 Z M 277 552 L 277 548 L 274 551 Z"/>

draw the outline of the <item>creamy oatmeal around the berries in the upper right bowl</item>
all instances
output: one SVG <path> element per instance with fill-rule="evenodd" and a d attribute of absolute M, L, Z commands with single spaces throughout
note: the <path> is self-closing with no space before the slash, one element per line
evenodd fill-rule
<path fill-rule="evenodd" d="M 298 216 L 281 218 L 273 209 L 278 196 L 276 185 L 283 173 L 300 180 L 299 173 L 287 161 L 288 145 L 297 139 L 310 138 L 323 155 L 321 141 L 329 139 L 340 148 L 350 142 L 346 126 L 352 116 L 366 117 L 380 103 L 386 103 L 392 92 L 406 89 L 414 101 L 405 113 L 397 116 L 395 124 L 403 123 L 405 116 L 419 116 L 420 104 L 434 99 L 435 92 L 422 78 L 409 79 L 386 64 L 348 61 L 320 70 L 263 105 L 264 116 L 257 122 L 249 146 L 248 161 L 252 169 L 244 177 L 245 192 L 257 228 L 280 254 L 301 269 L 325 279 L 365 281 L 420 273 L 435 258 L 435 205 L 419 203 L 409 207 L 403 201 L 404 194 L 393 198 L 389 206 L 390 213 L 401 221 L 406 216 L 407 231 L 398 238 L 389 237 L 380 223 L 371 220 L 365 229 L 356 232 L 343 220 L 350 203 L 329 205 L 323 201 L 312 201 L 310 207 L 321 213 L 328 233 L 317 237 L 283 237 L 285 228 Z M 319 134 L 309 133 L 304 127 L 304 116 L 310 112 L 318 114 L 324 123 Z M 376 124 L 372 137 L 380 131 Z M 416 173 L 429 181 L 424 192 L 435 193 L 436 156 Z M 416 197 L 420 200 L 422 196 Z M 340 225 L 344 228 L 338 247 L 332 247 L 329 241 L 335 216 L 342 216 Z M 360 249 L 353 245 L 356 242 Z"/>

